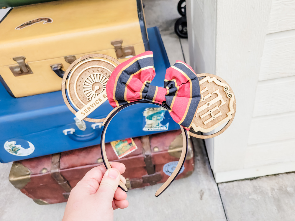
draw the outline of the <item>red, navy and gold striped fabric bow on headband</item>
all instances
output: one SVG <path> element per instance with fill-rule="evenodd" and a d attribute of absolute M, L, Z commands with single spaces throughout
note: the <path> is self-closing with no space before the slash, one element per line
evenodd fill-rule
<path fill-rule="evenodd" d="M 106 84 L 112 107 L 137 100 L 164 104 L 173 120 L 189 130 L 200 101 L 199 79 L 182 61 L 166 70 L 164 88 L 150 85 L 155 77 L 153 52 L 147 51 L 118 65 Z"/>

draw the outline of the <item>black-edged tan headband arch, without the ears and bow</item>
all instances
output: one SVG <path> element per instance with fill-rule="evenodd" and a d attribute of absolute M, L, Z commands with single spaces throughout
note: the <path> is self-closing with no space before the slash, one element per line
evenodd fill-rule
<path fill-rule="evenodd" d="M 106 169 L 109 169 L 111 168 L 111 165 L 109 163 L 109 160 L 106 156 L 106 148 L 105 148 L 105 144 L 104 144 L 104 141 L 105 141 L 105 134 L 106 134 L 106 129 L 108 128 L 109 126 L 109 123 L 111 122 L 111 120 L 113 119 L 113 117 L 119 113 L 119 111 L 123 110 L 124 108 L 127 108 L 128 106 L 131 106 L 131 105 L 135 105 L 135 104 L 139 104 L 139 103 L 151 103 L 151 104 L 156 104 L 156 103 L 152 103 L 152 102 L 149 102 L 149 101 L 145 101 L 145 100 L 140 100 L 140 101 L 135 101 L 135 102 L 132 102 L 132 103 L 128 103 L 128 104 L 124 104 L 124 105 L 121 105 L 117 108 L 115 108 L 111 113 L 109 113 L 109 115 L 105 118 L 104 122 L 103 122 L 103 125 L 104 125 L 104 128 L 102 130 L 102 133 L 101 133 L 101 156 L 102 156 L 102 159 L 104 161 L 104 165 L 106 166 Z M 163 108 L 166 108 L 165 105 L 163 104 L 157 104 Z M 167 109 L 167 108 L 166 108 Z M 184 164 L 184 161 L 186 159 L 186 154 L 187 154 L 187 150 L 188 150 L 188 135 L 187 135 L 187 131 L 183 129 L 182 126 L 180 126 L 181 128 L 181 132 L 182 132 L 182 137 L 183 137 L 183 146 L 182 146 L 182 152 L 181 152 L 181 156 L 180 156 L 180 159 L 178 161 L 178 164 L 175 168 L 175 170 L 173 171 L 173 173 L 171 174 L 171 176 L 166 180 L 166 182 L 157 190 L 155 196 L 158 197 L 160 196 L 161 193 L 164 192 L 165 189 L 167 189 L 170 184 L 176 179 L 177 175 L 179 174 L 181 168 L 183 167 L 183 164 Z M 119 182 L 119 187 L 121 187 L 125 192 L 128 191 L 127 187 L 124 185 L 124 183 L 120 180 Z"/>

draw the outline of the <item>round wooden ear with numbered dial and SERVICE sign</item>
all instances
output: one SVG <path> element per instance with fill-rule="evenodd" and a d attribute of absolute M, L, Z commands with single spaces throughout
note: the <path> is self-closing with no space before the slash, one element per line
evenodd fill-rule
<path fill-rule="evenodd" d="M 62 81 L 63 99 L 80 121 L 104 121 L 87 116 L 107 100 L 106 83 L 119 64 L 118 60 L 108 55 L 90 54 L 75 60 L 66 70 Z"/>

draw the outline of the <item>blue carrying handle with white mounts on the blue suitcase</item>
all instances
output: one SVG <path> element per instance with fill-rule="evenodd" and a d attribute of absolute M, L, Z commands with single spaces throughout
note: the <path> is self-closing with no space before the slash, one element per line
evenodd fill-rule
<path fill-rule="evenodd" d="M 89 134 L 85 134 L 85 135 L 76 134 L 74 128 L 65 129 L 63 130 L 63 133 L 69 138 L 71 138 L 73 141 L 78 141 L 78 142 L 92 141 L 99 137 L 100 135 L 99 131 L 100 131 L 101 125 L 102 123 L 92 124 L 91 127 L 93 128 L 93 132 Z"/>

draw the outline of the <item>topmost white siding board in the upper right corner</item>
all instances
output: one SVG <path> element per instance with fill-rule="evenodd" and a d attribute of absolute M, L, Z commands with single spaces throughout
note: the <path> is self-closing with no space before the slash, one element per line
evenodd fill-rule
<path fill-rule="evenodd" d="M 294 0 L 272 0 L 267 33 L 295 29 L 294 11 Z"/>

